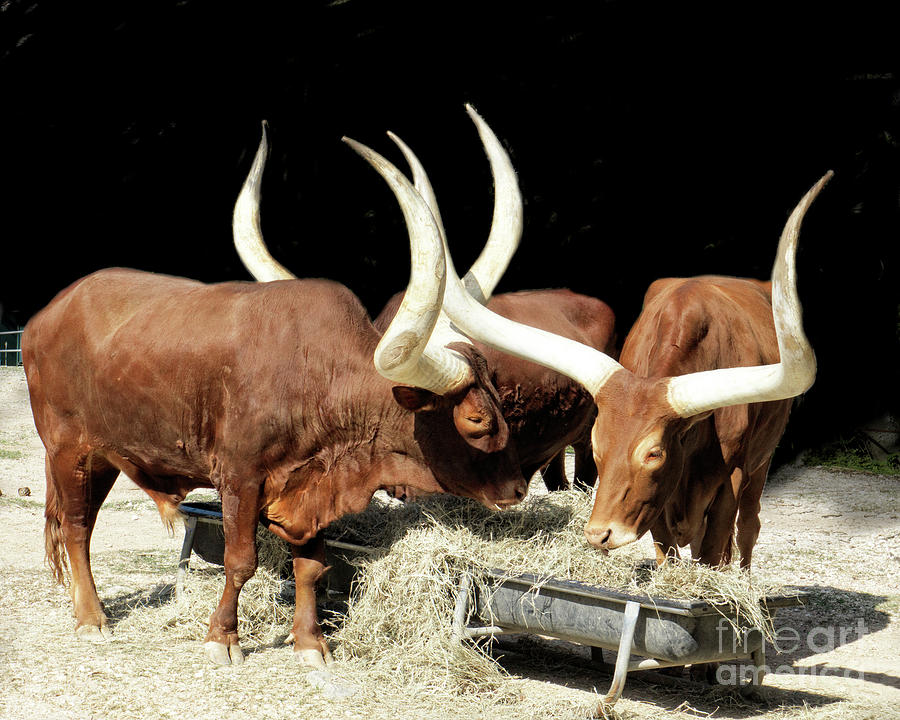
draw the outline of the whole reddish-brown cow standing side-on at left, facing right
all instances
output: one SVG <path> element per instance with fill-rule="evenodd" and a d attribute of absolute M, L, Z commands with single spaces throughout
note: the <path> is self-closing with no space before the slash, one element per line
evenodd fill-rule
<path fill-rule="evenodd" d="M 258 521 L 291 544 L 295 656 L 321 664 L 329 652 L 315 583 L 328 523 L 398 481 L 496 508 L 524 496 L 483 358 L 470 344 L 434 342 L 444 258 L 431 213 L 399 172 L 367 157 L 417 248 L 407 300 L 384 336 L 333 282 L 204 285 L 124 269 L 77 281 L 28 323 L 47 557 L 60 582 L 71 569 L 78 633 L 108 634 L 89 547 L 119 472 L 169 525 L 193 488 L 219 492 L 226 584 L 205 644 L 219 664 L 243 659 L 237 602 L 256 569 Z"/>

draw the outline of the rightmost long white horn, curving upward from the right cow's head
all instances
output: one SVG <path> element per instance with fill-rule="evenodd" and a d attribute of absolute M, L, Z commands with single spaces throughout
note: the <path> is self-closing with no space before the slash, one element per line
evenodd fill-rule
<path fill-rule="evenodd" d="M 772 314 L 780 362 L 673 377 L 667 396 L 672 409 L 681 417 L 728 405 L 783 400 L 800 395 L 812 386 L 816 379 L 816 356 L 803 332 L 795 258 L 803 217 L 833 174 L 829 170 L 804 195 L 788 218 L 778 243 L 772 269 Z"/>

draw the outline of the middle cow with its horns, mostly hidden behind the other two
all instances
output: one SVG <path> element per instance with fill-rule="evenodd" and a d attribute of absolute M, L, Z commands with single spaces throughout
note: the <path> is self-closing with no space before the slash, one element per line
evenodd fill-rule
<path fill-rule="evenodd" d="M 601 352 L 615 353 L 615 316 L 606 303 L 570 290 L 531 290 L 491 296 L 503 271 L 512 259 L 522 231 L 522 199 L 509 156 L 487 123 L 470 106 L 469 116 L 484 144 L 496 193 L 494 222 L 484 252 L 463 278 L 469 293 L 504 317 L 582 342 Z M 424 168 L 412 151 L 393 133 L 413 171 L 416 189 L 431 207 L 444 235 L 440 211 Z M 265 126 L 258 167 L 261 176 L 267 151 Z M 269 253 L 259 228 L 259 183 L 243 194 L 247 221 L 236 225 L 234 239 L 244 265 L 257 280 L 265 282 L 291 278 L 293 274 Z M 250 220 L 249 218 L 252 218 Z M 394 295 L 375 318 L 376 329 L 384 330 L 394 318 L 403 293 Z M 476 344 L 487 360 L 494 385 L 500 394 L 501 409 L 509 425 L 522 473 L 531 478 L 539 469 L 550 490 L 568 487 L 565 450 L 575 449 L 575 483 L 589 489 L 597 478 L 591 452 L 590 429 L 596 415 L 593 399 L 577 382 L 533 362 L 511 357 L 488 345 Z M 403 486 L 391 489 L 396 496 L 417 493 Z"/>

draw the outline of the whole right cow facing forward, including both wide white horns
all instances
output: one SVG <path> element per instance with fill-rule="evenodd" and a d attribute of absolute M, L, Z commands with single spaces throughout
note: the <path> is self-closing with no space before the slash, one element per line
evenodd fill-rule
<path fill-rule="evenodd" d="M 794 256 L 803 216 L 830 177 L 788 219 L 771 285 L 724 277 L 659 281 L 626 340 L 622 365 L 472 302 L 448 263 L 444 307 L 455 324 L 577 379 L 593 395 L 600 478 L 585 527 L 592 545 L 610 550 L 652 530 L 660 559 L 696 541 L 699 559 L 717 565 L 730 558 L 740 509 L 738 547 L 749 566 L 759 495 L 789 398 L 815 379 Z"/>

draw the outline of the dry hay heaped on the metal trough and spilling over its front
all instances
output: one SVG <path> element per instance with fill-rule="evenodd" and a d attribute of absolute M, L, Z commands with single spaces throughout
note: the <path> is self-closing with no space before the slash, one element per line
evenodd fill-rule
<path fill-rule="evenodd" d="M 503 512 L 448 495 L 399 507 L 375 498 L 366 511 L 327 531 L 381 549 L 360 562 L 347 613 L 335 623 L 336 657 L 362 660 L 384 682 L 400 677 L 423 688 L 502 694 L 507 676 L 485 645 L 451 637 L 460 574 L 471 572 L 490 592 L 479 571 L 496 569 L 723 604 L 739 611 L 742 625 L 771 636 L 760 599 L 776 588 L 757 586 L 734 567 L 679 561 L 650 570 L 636 545 L 604 556 L 582 533 L 590 510 L 590 498 L 580 491 L 530 496 Z"/>

